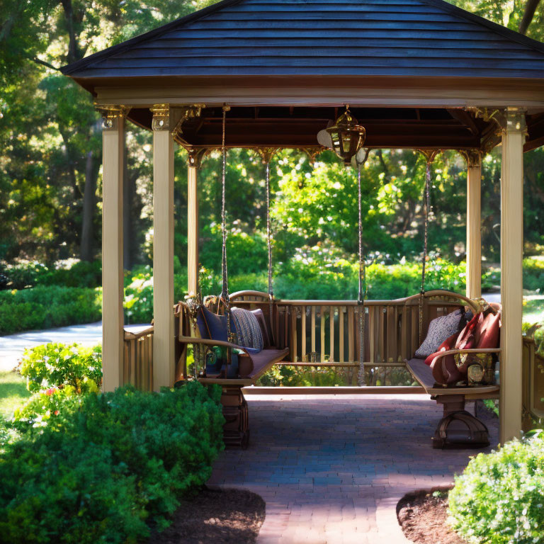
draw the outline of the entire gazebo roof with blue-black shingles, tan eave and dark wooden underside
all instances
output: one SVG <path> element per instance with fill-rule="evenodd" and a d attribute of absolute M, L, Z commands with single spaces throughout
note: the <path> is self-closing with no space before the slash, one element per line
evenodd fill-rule
<path fill-rule="evenodd" d="M 223 0 L 62 72 L 145 128 L 205 103 L 193 147 L 219 145 L 225 102 L 231 147 L 315 146 L 343 103 L 369 147 L 487 148 L 472 106 L 527 107 L 526 149 L 544 141 L 544 44 L 442 0 Z"/>

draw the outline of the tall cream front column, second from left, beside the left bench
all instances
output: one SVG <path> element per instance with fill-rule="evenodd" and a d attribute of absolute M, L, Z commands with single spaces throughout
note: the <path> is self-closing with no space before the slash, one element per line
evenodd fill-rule
<path fill-rule="evenodd" d="M 174 139 L 170 107 L 153 113 L 153 388 L 174 385 Z"/>

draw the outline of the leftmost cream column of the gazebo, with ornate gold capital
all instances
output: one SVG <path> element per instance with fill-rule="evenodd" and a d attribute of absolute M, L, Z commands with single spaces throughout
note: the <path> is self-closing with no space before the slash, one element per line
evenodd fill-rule
<path fill-rule="evenodd" d="M 103 106 L 102 388 L 123 385 L 123 106 Z"/>

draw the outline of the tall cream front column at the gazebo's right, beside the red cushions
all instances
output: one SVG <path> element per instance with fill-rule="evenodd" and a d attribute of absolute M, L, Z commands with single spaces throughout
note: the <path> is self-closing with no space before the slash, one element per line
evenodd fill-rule
<path fill-rule="evenodd" d="M 521 435 L 523 341 L 523 143 L 525 113 L 506 108 L 501 176 L 501 443 Z"/>

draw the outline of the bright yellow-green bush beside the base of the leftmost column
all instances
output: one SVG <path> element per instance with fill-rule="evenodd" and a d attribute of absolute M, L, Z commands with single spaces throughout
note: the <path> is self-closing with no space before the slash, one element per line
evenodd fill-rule
<path fill-rule="evenodd" d="M 80 393 L 89 381 L 100 387 L 102 346 L 43 344 L 26 349 L 19 371 L 30 392 L 69 385 Z"/>

